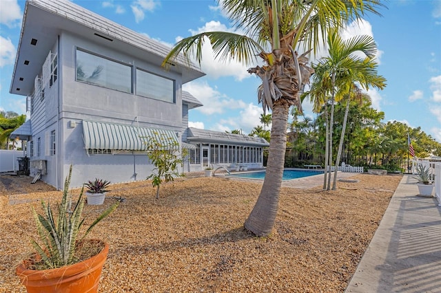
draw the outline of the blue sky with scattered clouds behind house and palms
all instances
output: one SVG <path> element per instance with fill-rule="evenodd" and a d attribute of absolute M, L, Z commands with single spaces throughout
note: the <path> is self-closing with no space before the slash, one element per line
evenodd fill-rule
<path fill-rule="evenodd" d="M 74 0 L 74 3 L 152 39 L 172 46 L 183 37 L 211 30 L 232 31 L 212 0 Z M 373 36 L 378 45 L 378 73 L 387 78 L 382 91 L 369 89 L 373 107 L 384 122 L 397 120 L 421 127 L 441 142 L 441 1 L 385 1 L 382 17 L 368 15 L 343 34 Z M 0 110 L 25 113 L 25 97 L 9 94 L 25 1 L 0 0 Z M 204 48 L 207 76 L 183 86 L 204 107 L 189 113 L 189 125 L 249 133 L 259 124 L 262 107 L 256 89 L 260 80 L 238 63 L 217 63 Z M 324 53 L 320 53 L 324 54 Z M 317 58 L 311 56 L 312 59 Z M 314 117 L 311 105 L 303 104 Z"/>

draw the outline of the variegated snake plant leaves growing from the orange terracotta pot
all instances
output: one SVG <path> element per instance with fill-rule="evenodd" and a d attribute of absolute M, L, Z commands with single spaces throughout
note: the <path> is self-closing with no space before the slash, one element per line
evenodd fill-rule
<path fill-rule="evenodd" d="M 32 246 L 41 257 L 42 264 L 38 269 L 45 270 L 50 268 L 60 268 L 63 265 L 70 265 L 79 260 L 76 259 L 76 252 L 79 248 L 79 243 L 85 238 L 92 228 L 102 219 L 110 215 L 119 202 L 116 202 L 107 208 L 85 231 L 81 238 L 79 237 L 79 230 L 83 225 L 84 219 L 81 219 L 83 213 L 84 199 L 83 188 L 79 195 L 76 204 L 72 210 L 72 194 L 69 192 L 70 177 L 72 175 L 72 165 L 69 169 L 69 174 L 65 179 L 63 188 L 63 197 L 61 204 L 57 204 L 58 213 L 54 217 L 52 208 L 49 203 L 46 205 L 43 200 L 41 206 L 43 207 L 43 215 L 37 214 L 32 207 L 35 222 L 37 224 L 37 231 L 41 245 L 37 241 L 32 240 Z"/>

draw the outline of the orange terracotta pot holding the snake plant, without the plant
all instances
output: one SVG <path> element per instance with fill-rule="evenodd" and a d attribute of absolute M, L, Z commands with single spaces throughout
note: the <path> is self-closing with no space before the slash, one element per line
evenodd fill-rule
<path fill-rule="evenodd" d="M 88 241 L 104 244 L 103 250 L 80 263 L 50 270 L 28 270 L 25 266 L 27 261 L 23 261 L 15 273 L 20 277 L 21 283 L 25 285 L 28 293 L 97 292 L 101 270 L 109 252 L 109 245 L 101 240 Z"/>

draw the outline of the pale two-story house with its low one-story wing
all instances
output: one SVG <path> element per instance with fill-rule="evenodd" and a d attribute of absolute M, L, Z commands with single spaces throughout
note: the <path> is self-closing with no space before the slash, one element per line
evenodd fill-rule
<path fill-rule="evenodd" d="M 261 168 L 265 140 L 188 128 L 202 105 L 182 85 L 205 74 L 183 59 L 164 69 L 169 51 L 70 1 L 28 0 L 10 93 L 27 97 L 30 120 L 12 136 L 27 141 L 31 175 L 62 188 L 72 164 L 71 186 L 144 180 L 151 135 L 189 149 L 184 172 Z"/>

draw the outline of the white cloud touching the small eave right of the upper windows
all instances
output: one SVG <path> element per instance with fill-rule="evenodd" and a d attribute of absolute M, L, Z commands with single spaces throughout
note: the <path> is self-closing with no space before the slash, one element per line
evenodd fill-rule
<path fill-rule="evenodd" d="M 243 100 L 234 100 L 225 94 L 221 94 L 216 89 L 210 87 L 206 82 L 192 81 L 183 85 L 183 90 L 189 91 L 200 100 L 203 107 L 198 107 L 194 111 L 200 111 L 206 115 L 214 113 L 225 113 L 227 109 L 242 109 L 246 107 Z"/>

